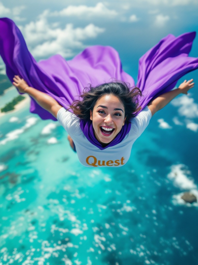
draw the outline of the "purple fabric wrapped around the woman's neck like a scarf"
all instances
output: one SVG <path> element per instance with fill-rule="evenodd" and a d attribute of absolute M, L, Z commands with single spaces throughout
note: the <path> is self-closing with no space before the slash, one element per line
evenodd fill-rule
<path fill-rule="evenodd" d="M 93 129 L 93 125 L 92 125 L 91 120 L 90 121 L 81 120 L 80 126 L 81 126 L 81 130 L 83 131 L 83 134 L 85 135 L 87 140 L 90 143 L 92 143 L 93 145 L 95 145 L 96 147 L 98 147 L 100 150 L 104 150 L 110 146 L 114 146 L 116 144 L 119 144 L 125 138 L 125 136 L 129 133 L 129 131 L 131 129 L 131 123 L 125 122 L 124 126 L 122 126 L 121 131 L 116 135 L 114 140 L 112 140 L 107 146 L 102 147 L 102 144 L 99 143 L 95 137 L 94 129 Z"/>

